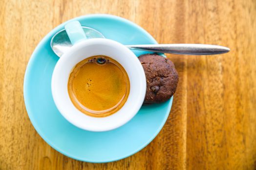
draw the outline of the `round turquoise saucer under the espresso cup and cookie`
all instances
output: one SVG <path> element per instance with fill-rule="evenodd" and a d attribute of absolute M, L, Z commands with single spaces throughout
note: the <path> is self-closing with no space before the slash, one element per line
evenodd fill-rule
<path fill-rule="evenodd" d="M 121 17 L 88 15 L 74 19 L 124 45 L 157 43 L 144 29 Z M 51 147 L 77 160 L 103 163 L 137 153 L 164 126 L 172 98 L 164 103 L 142 106 L 133 119 L 112 131 L 89 132 L 70 124 L 57 110 L 51 94 L 51 76 L 59 57 L 51 50 L 50 40 L 64 25 L 59 25 L 43 38 L 26 68 L 24 101 L 33 126 Z M 148 53 L 133 52 L 137 56 Z"/>

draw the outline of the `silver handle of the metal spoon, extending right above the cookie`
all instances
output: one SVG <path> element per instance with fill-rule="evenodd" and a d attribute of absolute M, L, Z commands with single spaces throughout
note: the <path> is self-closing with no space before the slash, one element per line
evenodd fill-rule
<path fill-rule="evenodd" d="M 218 45 L 208 44 L 149 44 L 149 45 L 126 45 L 132 50 L 164 52 L 185 55 L 212 55 L 229 52 L 230 49 Z"/>

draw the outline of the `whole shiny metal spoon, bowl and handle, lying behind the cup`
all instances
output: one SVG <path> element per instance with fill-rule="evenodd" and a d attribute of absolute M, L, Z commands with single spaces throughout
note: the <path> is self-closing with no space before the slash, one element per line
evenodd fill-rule
<path fill-rule="evenodd" d="M 89 27 L 83 27 L 87 38 L 105 38 L 103 34 Z M 72 47 L 65 29 L 56 33 L 51 39 L 51 48 L 56 55 L 61 57 L 65 51 Z M 186 55 L 213 55 L 229 52 L 230 49 L 218 45 L 207 44 L 148 44 L 148 45 L 126 45 L 132 50 L 163 52 L 171 54 Z"/>

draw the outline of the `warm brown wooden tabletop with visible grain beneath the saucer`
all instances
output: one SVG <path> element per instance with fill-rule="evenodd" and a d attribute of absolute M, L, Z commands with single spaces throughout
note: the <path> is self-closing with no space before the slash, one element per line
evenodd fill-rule
<path fill-rule="evenodd" d="M 52 149 L 33 128 L 23 77 L 39 41 L 62 22 L 125 17 L 159 43 L 231 51 L 168 55 L 179 84 L 159 135 L 126 159 L 92 164 Z M 256 170 L 256 0 L 0 0 L 0 170 Z"/>

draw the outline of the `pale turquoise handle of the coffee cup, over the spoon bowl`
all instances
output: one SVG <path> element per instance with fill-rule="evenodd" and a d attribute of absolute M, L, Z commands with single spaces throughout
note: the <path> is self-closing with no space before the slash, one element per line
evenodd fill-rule
<path fill-rule="evenodd" d="M 71 21 L 64 27 L 72 45 L 86 39 L 85 32 L 79 21 Z"/>

